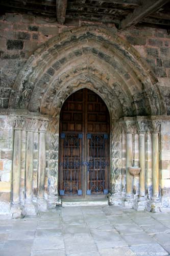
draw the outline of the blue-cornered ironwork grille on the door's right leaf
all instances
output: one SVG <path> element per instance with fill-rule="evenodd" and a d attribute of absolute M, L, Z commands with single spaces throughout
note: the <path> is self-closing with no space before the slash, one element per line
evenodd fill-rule
<path fill-rule="evenodd" d="M 87 134 L 87 195 L 108 194 L 107 134 Z"/>

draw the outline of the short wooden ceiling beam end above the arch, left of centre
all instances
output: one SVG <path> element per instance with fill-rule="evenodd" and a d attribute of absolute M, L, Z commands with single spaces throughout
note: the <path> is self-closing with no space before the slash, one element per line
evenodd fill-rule
<path fill-rule="evenodd" d="M 57 21 L 60 24 L 64 24 L 66 9 L 67 9 L 67 0 L 56 0 L 56 8 L 57 8 Z"/>

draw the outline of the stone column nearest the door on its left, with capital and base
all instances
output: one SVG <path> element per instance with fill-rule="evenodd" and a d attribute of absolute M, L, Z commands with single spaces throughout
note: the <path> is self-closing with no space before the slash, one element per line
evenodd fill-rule
<path fill-rule="evenodd" d="M 44 200 L 44 184 L 45 184 L 45 133 L 48 126 L 48 121 L 39 121 L 39 156 L 38 156 L 38 209 L 46 210 L 46 200 Z"/>

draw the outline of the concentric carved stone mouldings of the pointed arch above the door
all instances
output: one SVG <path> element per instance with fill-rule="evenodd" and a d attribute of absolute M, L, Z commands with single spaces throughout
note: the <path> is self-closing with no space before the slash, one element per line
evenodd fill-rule
<path fill-rule="evenodd" d="M 124 102 L 121 91 L 126 92 L 126 100 L 130 102 L 132 109 L 130 115 L 166 113 L 157 79 L 147 62 L 126 40 L 116 34 L 111 35 L 107 29 L 95 26 L 71 30 L 42 45 L 20 71 L 11 92 L 10 108 L 38 112 L 45 104 L 45 93 L 49 92 L 50 87 L 53 91 L 54 80 L 57 79 L 57 83 L 61 85 L 64 82 L 64 92 L 67 78 L 67 84 L 71 84 L 74 77 L 69 75 L 71 68 L 74 73 L 76 63 L 83 67 L 82 59 L 85 57 L 89 70 L 95 62 L 100 66 L 103 80 L 111 77 L 110 87 L 121 104 Z M 32 107 L 34 105 L 35 108 Z"/>

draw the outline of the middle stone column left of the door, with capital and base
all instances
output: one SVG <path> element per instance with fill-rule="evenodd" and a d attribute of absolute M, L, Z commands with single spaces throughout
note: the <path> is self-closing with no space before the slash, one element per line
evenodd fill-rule
<path fill-rule="evenodd" d="M 27 214 L 36 214 L 33 198 L 33 160 L 34 160 L 34 132 L 38 128 L 38 120 L 27 119 L 27 156 L 26 156 L 26 200 Z"/>

